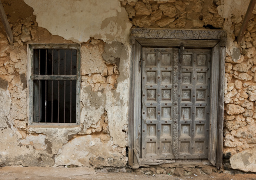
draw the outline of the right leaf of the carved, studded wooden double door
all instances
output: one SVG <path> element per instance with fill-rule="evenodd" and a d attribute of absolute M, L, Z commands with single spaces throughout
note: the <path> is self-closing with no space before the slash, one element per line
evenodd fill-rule
<path fill-rule="evenodd" d="M 179 62 L 179 158 L 208 158 L 211 50 L 185 49 Z"/>

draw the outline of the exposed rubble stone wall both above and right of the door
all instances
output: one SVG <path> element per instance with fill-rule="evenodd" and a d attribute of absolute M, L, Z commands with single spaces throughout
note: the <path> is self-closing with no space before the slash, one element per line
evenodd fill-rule
<path fill-rule="evenodd" d="M 254 171 L 256 146 L 256 11 L 243 41 L 236 37 L 249 1 L 129 1 L 120 0 L 133 27 L 223 29 L 227 31 L 225 64 L 225 167 Z M 241 155 L 239 155 L 241 152 Z M 248 156 L 242 156 L 242 154 Z M 242 156 L 242 158 L 241 158 Z"/>

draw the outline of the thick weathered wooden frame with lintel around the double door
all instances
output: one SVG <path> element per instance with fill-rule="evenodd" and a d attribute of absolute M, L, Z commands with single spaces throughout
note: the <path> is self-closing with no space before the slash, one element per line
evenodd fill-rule
<path fill-rule="evenodd" d="M 210 97 L 210 146 L 208 159 L 222 166 L 226 32 L 223 30 L 173 30 L 134 28 L 131 32 L 128 164 L 141 158 L 141 71 L 142 47 L 212 49 Z M 177 139 L 176 139 L 177 140 Z"/>

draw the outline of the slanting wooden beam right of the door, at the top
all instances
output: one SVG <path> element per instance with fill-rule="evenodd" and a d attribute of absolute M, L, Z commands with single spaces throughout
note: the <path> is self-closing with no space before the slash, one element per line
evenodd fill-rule
<path fill-rule="evenodd" d="M 237 43 L 240 43 L 243 39 L 243 35 L 244 35 L 244 32 L 247 28 L 249 18 L 250 18 L 250 15 L 251 15 L 251 13 L 254 9 L 255 3 L 256 3 L 256 0 L 250 0 L 250 4 L 248 6 L 247 12 L 246 12 L 245 17 L 243 19 L 242 27 L 241 27 L 241 29 L 239 31 L 239 34 L 238 34 L 238 37 L 237 37 Z"/>

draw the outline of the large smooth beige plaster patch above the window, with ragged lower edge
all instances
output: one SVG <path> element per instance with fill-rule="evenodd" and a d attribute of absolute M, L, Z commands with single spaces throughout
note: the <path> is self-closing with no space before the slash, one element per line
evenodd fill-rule
<path fill-rule="evenodd" d="M 90 37 L 129 42 L 132 24 L 118 0 L 24 0 L 34 9 L 38 26 L 76 43 Z"/>

